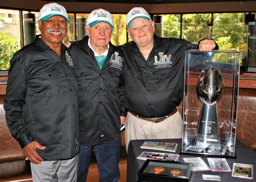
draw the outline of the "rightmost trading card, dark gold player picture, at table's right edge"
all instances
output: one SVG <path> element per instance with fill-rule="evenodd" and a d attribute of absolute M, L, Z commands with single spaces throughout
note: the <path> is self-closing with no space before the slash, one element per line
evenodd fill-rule
<path fill-rule="evenodd" d="M 232 176 L 253 179 L 253 165 L 233 163 Z"/>

